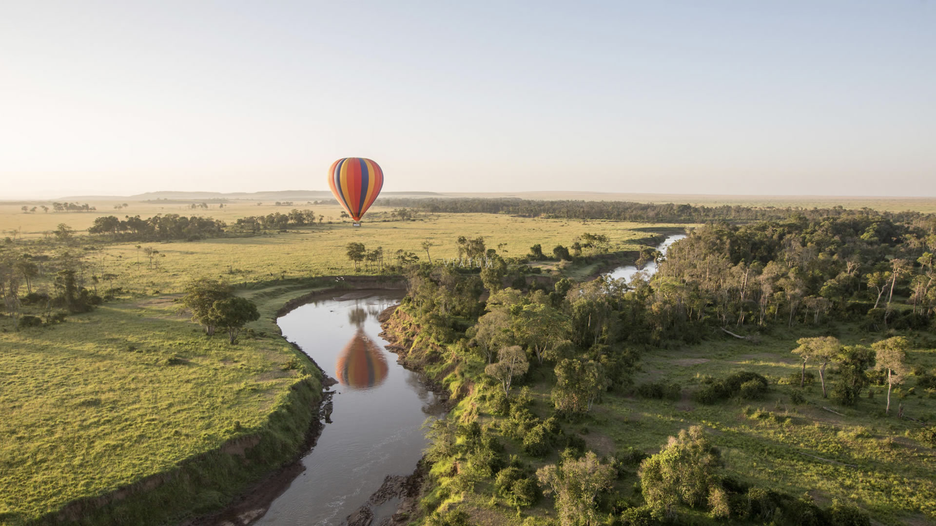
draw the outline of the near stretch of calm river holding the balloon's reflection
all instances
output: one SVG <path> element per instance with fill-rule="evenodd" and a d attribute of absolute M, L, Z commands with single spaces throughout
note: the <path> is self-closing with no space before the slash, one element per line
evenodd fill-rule
<path fill-rule="evenodd" d="M 256 524 L 342 524 L 385 475 L 413 473 L 426 445 L 422 422 L 445 410 L 420 375 L 397 364 L 377 336 L 377 314 L 401 298 L 402 292 L 380 291 L 357 300 L 317 300 L 277 320 L 287 340 L 341 383 L 331 387 L 329 422 L 301 460 L 305 470 Z M 375 506 L 373 524 L 397 504 Z"/>

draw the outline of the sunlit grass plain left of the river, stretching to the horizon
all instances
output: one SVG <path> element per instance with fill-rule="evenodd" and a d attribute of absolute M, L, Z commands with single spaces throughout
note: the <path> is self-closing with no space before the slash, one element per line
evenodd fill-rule
<path fill-rule="evenodd" d="M 402 221 L 378 207 L 356 228 L 329 204 L 212 203 L 209 210 L 90 204 L 98 210 L 0 210 L 7 255 L 38 262 L 29 291 L 56 294 L 56 272 L 68 268 L 88 294 L 107 297 L 90 312 L 39 327 L 17 330 L 10 317 L 0 318 L 0 524 L 183 519 L 217 509 L 289 460 L 316 417 L 320 374 L 279 336 L 273 319 L 287 300 L 336 285 L 317 276 L 356 273 L 345 254 L 348 242 L 383 247 L 389 263 L 398 250 L 427 260 L 424 241 L 431 242 L 433 258 L 458 256 L 459 236 L 483 236 L 499 254 L 522 256 L 533 243 L 569 244 L 584 232 L 607 236 L 611 252 L 631 251 L 655 232 L 682 227 L 480 213 L 418 213 Z M 86 233 L 106 215 L 179 213 L 233 224 L 295 208 L 312 209 L 324 221 L 196 241 L 115 241 Z M 60 224 L 74 232 L 63 239 L 48 233 Z M 190 313 L 180 312 L 177 300 L 193 278 L 227 281 L 256 302 L 261 317 L 237 344 L 205 336 Z M 24 296 L 27 285 L 19 286 Z M 54 312 L 34 301 L 23 302 L 19 314 L 46 319 Z M 88 504 L 118 489 L 129 489 L 129 496 L 110 504 L 105 498 L 100 508 Z"/>

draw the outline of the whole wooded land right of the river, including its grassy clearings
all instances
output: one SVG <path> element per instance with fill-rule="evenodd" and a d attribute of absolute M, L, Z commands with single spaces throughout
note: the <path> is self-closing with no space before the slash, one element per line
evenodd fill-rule
<path fill-rule="evenodd" d="M 410 270 L 388 338 L 460 399 L 421 520 L 936 520 L 934 251 L 862 211 L 701 226 L 628 284 Z"/>

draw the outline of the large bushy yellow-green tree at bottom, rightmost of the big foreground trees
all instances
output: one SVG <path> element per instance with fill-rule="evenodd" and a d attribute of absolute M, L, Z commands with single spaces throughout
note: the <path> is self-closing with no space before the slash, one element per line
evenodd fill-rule
<path fill-rule="evenodd" d="M 644 500 L 657 519 L 672 519 L 677 504 L 695 507 L 707 502 L 717 485 L 715 473 L 721 460 L 718 450 L 700 426 L 669 437 L 659 453 L 640 463 L 637 475 Z"/>

